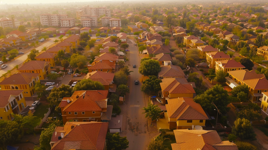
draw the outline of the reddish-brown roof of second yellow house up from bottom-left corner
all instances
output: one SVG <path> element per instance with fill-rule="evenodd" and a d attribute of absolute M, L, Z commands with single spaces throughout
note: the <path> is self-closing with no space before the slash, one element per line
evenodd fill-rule
<path fill-rule="evenodd" d="M 0 85 L 16 85 L 16 84 L 29 84 L 32 82 L 32 78 L 37 78 L 38 73 L 29 73 L 29 72 L 18 72 L 13 74 L 8 78 L 5 78 Z"/>

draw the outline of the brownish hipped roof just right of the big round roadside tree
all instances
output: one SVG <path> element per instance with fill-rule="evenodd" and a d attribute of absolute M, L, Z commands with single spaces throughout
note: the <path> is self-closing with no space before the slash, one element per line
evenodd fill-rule
<path fill-rule="evenodd" d="M 185 74 L 181 67 L 175 65 L 168 65 L 161 67 L 161 71 L 158 73 L 158 78 L 185 78 Z"/>

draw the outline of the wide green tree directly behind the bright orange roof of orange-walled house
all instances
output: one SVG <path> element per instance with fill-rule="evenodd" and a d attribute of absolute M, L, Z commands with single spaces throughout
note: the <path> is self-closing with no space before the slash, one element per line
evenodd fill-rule
<path fill-rule="evenodd" d="M 99 81 L 92 81 L 91 79 L 82 79 L 78 82 L 73 91 L 82 91 L 82 90 L 105 90 L 104 86 Z"/>

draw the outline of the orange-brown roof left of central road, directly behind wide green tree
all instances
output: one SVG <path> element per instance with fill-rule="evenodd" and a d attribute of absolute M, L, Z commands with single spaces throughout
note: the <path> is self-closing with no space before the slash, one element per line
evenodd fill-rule
<path fill-rule="evenodd" d="M 92 81 L 99 81 L 102 85 L 110 85 L 114 79 L 114 74 L 102 71 L 93 71 L 87 73 L 86 79 L 91 79 Z"/>

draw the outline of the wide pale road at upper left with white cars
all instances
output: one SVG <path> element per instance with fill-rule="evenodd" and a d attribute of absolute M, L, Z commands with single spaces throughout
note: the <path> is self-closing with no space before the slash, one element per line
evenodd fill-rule
<path fill-rule="evenodd" d="M 40 52 L 43 47 L 49 47 L 52 44 L 54 44 L 54 42 L 52 40 L 49 40 L 46 43 L 40 45 L 39 47 L 36 47 L 35 49 Z M 24 53 L 23 55 L 21 55 L 17 59 L 15 59 L 15 60 L 13 60 L 11 62 L 6 63 L 8 65 L 8 67 L 6 67 L 5 69 L 0 69 L 0 76 L 2 74 L 5 74 L 6 72 L 8 72 L 8 70 L 13 69 L 16 65 L 19 65 L 19 64 L 23 63 L 23 61 L 25 61 L 27 59 L 29 53 L 30 52 Z"/>

